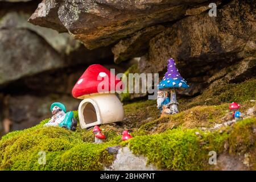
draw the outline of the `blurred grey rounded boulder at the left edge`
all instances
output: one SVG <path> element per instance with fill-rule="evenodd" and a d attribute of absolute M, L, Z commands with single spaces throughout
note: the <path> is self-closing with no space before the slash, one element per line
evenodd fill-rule
<path fill-rule="evenodd" d="M 0 85 L 65 64 L 43 38 L 29 30 L 0 30 L 0 54 Z"/>

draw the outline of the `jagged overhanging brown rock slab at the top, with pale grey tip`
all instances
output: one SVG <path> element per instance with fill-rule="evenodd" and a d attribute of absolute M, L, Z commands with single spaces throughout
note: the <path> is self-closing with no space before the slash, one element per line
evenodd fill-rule
<path fill-rule="evenodd" d="M 188 9 L 202 2 L 205 0 L 43 0 L 29 22 L 67 31 L 93 49 L 144 27 L 183 18 Z"/>

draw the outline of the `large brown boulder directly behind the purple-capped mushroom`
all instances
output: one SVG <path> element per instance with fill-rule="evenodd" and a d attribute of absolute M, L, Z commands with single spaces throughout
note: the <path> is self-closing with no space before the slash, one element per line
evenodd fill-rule
<path fill-rule="evenodd" d="M 169 57 L 184 77 L 211 75 L 256 52 L 255 4 L 232 1 L 217 16 L 188 16 L 150 41 L 142 72 L 162 72 Z M 158 64 L 155 64 L 158 63 Z"/>

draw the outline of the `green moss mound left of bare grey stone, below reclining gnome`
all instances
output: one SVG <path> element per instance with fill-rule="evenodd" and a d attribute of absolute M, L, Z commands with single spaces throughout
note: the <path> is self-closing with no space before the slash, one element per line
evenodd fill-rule
<path fill-rule="evenodd" d="M 82 135 L 61 127 L 42 127 L 10 133 L 0 142 L 0 169 L 5 170 L 100 170 L 112 163 L 105 148 L 121 141 L 104 144 L 84 142 Z M 109 138 L 110 135 L 108 135 Z M 46 152 L 46 165 L 38 163 L 38 152 Z"/>

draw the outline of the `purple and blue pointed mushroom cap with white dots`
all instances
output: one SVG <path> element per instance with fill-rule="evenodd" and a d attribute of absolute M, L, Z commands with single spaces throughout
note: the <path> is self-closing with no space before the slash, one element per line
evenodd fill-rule
<path fill-rule="evenodd" d="M 164 74 L 163 80 L 160 81 L 158 85 L 159 90 L 166 90 L 171 88 L 189 88 L 187 81 L 185 81 L 184 78 L 180 76 L 180 73 L 176 68 L 175 61 L 172 58 L 168 59 L 167 72 Z"/>

